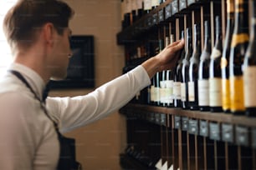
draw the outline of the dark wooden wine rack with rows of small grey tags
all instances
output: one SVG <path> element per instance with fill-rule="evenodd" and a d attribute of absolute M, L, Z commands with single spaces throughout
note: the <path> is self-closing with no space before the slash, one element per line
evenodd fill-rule
<path fill-rule="evenodd" d="M 131 57 L 131 49 L 152 42 L 159 34 L 166 37 L 172 33 L 178 40 L 182 30 L 195 23 L 201 28 L 203 48 L 205 20 L 211 25 L 213 47 L 217 15 L 225 35 L 225 2 L 166 0 L 124 28 L 117 34 L 118 44 L 125 47 L 124 72 L 154 55 L 148 50 L 145 55 Z M 127 125 L 127 148 L 120 154 L 123 169 L 256 169 L 255 117 L 152 106 L 146 98 L 145 88 L 120 109 Z"/>

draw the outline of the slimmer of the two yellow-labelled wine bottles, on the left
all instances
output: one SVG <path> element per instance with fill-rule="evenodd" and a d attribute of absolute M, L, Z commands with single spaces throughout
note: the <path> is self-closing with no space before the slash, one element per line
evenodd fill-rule
<path fill-rule="evenodd" d="M 227 0 L 227 28 L 221 59 L 223 112 L 230 112 L 229 56 L 234 27 L 234 0 Z"/>

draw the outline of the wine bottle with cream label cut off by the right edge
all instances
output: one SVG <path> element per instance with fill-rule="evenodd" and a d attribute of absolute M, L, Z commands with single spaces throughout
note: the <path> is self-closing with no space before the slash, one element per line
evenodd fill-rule
<path fill-rule="evenodd" d="M 250 39 L 243 62 L 243 89 L 245 113 L 256 117 L 256 2 L 253 1 Z"/>

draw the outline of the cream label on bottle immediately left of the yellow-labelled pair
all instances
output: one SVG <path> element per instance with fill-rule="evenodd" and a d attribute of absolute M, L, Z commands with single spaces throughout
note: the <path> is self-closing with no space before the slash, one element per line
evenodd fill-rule
<path fill-rule="evenodd" d="M 209 78 L 209 106 L 222 107 L 222 78 Z"/>

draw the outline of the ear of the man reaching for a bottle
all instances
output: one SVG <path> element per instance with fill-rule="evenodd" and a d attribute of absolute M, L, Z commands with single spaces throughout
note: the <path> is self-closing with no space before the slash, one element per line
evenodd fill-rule
<path fill-rule="evenodd" d="M 44 32 L 44 40 L 46 44 L 50 47 L 54 45 L 54 24 L 53 23 L 46 23 L 43 27 Z"/>

